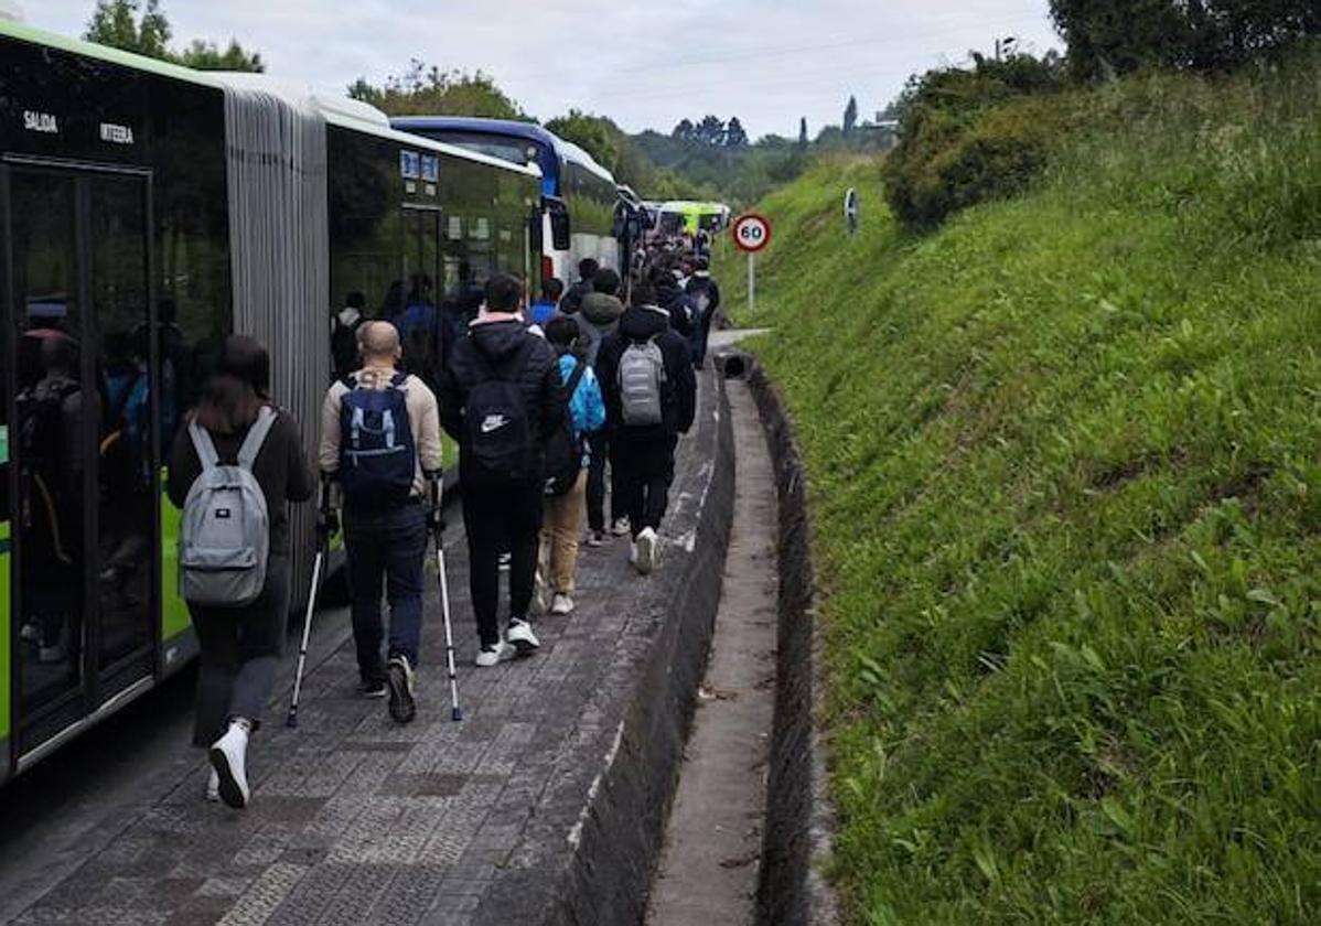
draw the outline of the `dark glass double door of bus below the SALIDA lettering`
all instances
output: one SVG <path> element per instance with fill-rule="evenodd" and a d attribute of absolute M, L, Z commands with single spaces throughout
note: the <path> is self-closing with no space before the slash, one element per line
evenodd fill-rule
<path fill-rule="evenodd" d="M 149 197 L 141 172 L 0 164 L 0 723 L 20 769 L 153 675 L 162 374 Z"/>

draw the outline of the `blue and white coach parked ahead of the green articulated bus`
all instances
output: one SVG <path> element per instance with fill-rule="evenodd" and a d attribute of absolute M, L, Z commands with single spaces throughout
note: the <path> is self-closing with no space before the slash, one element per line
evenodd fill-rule
<path fill-rule="evenodd" d="M 621 267 L 621 227 L 614 177 L 592 156 L 532 123 L 465 116 L 404 116 L 391 120 L 404 132 L 542 169 L 546 205 L 542 275 L 565 285 L 577 279 L 577 263 L 593 258 Z"/>

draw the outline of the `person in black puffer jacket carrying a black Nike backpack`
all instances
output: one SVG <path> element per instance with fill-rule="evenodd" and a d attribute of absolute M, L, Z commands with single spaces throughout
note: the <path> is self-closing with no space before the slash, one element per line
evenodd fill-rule
<path fill-rule="evenodd" d="M 480 667 L 540 646 L 528 621 L 542 530 L 547 439 L 564 417 L 555 351 L 520 312 L 523 285 L 507 275 L 486 284 L 468 337 L 454 345 L 441 382 L 440 420 L 458 441 L 469 584 Z M 501 633 L 499 555 L 510 552 L 509 625 Z"/>

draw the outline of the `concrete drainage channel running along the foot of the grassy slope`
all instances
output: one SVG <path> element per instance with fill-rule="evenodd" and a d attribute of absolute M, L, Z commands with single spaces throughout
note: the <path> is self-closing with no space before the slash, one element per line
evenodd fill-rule
<path fill-rule="evenodd" d="M 820 873 L 832 827 L 814 723 L 820 686 L 803 473 L 761 367 L 742 353 L 717 363 L 737 448 L 733 526 L 646 922 L 830 925 L 838 908 Z"/>

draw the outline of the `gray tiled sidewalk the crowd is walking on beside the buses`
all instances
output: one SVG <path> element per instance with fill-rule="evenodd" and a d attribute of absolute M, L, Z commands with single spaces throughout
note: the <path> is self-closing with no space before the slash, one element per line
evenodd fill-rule
<path fill-rule="evenodd" d="M 186 777 L 15 922 L 517 925 L 550 915 L 548 881 L 567 877 L 565 857 L 620 752 L 630 672 L 694 556 L 716 410 L 703 378 L 696 437 L 680 443 L 660 572 L 635 576 L 625 539 L 584 546 L 579 609 L 540 618 L 542 650 L 531 659 L 473 667 L 466 551 L 450 515 L 462 723 L 449 719 L 429 569 L 415 723 L 399 727 L 383 700 L 355 696 L 349 642 L 306 678 L 297 730 L 283 725 L 280 692 L 254 742 L 248 810 L 202 801 L 198 753 Z"/>

